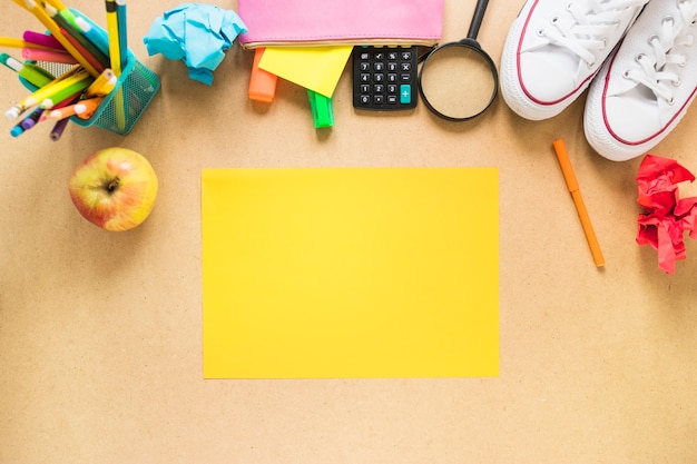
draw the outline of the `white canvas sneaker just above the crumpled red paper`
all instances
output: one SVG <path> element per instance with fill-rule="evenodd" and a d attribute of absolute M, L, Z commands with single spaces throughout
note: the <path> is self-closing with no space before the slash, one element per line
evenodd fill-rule
<path fill-rule="evenodd" d="M 697 95 L 697 0 L 651 0 L 590 86 L 583 125 L 603 157 L 646 154 Z"/>

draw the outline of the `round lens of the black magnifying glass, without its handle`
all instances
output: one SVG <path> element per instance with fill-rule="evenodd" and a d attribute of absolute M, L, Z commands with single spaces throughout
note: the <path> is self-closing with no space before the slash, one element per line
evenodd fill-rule
<path fill-rule="evenodd" d="M 422 97 L 452 119 L 468 119 L 487 109 L 497 85 L 483 52 L 463 45 L 435 50 L 421 70 Z"/>

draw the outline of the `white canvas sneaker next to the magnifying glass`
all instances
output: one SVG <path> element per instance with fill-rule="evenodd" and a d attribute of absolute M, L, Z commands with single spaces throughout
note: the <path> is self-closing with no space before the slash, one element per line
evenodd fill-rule
<path fill-rule="evenodd" d="M 588 87 L 648 0 L 528 0 L 509 30 L 501 93 L 527 119 L 558 115 Z"/>

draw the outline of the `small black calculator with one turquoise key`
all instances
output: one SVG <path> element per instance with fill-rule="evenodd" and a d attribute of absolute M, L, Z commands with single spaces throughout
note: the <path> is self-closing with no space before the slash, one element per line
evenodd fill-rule
<path fill-rule="evenodd" d="M 413 109 L 418 100 L 415 46 L 356 46 L 353 107 L 376 111 Z"/>

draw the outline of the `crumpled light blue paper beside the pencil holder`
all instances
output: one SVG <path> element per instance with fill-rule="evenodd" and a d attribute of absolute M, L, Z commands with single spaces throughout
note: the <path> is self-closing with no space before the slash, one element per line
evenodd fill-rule
<path fill-rule="evenodd" d="M 245 32 L 247 27 L 233 10 L 183 3 L 157 17 L 143 41 L 150 56 L 184 60 L 192 79 L 210 86 L 225 51 Z"/>

